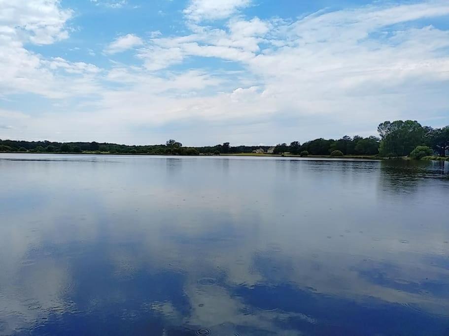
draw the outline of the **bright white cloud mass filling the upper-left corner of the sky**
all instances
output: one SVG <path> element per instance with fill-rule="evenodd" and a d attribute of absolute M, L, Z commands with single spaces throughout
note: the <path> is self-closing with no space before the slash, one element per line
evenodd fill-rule
<path fill-rule="evenodd" d="M 71 15 L 59 0 L 0 0 L 0 95 L 32 92 L 62 98 L 96 92 L 92 75 L 99 69 L 94 65 L 61 57 L 46 60 L 25 47 L 67 38 Z"/>

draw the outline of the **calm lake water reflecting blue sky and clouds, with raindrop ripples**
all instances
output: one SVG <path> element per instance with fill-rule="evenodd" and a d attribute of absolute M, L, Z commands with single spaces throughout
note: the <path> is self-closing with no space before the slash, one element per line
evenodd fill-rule
<path fill-rule="evenodd" d="M 448 335 L 449 164 L 0 154 L 0 334 Z"/>

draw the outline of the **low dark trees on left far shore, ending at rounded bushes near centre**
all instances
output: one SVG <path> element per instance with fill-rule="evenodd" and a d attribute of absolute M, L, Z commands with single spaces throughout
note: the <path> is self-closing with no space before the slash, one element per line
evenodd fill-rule
<path fill-rule="evenodd" d="M 195 148 L 182 147 L 175 140 L 165 145 L 127 146 L 97 142 L 49 142 L 49 141 L 13 141 L 0 140 L 0 152 L 29 153 L 117 153 L 117 154 L 172 154 L 199 155 Z"/>

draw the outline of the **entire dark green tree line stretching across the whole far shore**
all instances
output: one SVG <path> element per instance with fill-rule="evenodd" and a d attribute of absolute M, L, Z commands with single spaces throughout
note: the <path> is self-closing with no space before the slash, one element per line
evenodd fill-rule
<path fill-rule="evenodd" d="M 382 122 L 378 126 L 379 136 L 353 137 L 345 135 L 340 139 L 318 138 L 301 144 L 293 141 L 289 145 L 276 146 L 231 146 L 229 142 L 206 147 L 183 147 L 173 139 L 161 145 L 128 146 L 97 142 L 50 142 L 0 140 L 0 152 L 30 153 L 118 153 L 118 154 L 170 154 L 199 155 L 221 153 L 252 153 L 272 148 L 274 154 L 292 155 L 379 155 L 382 157 L 414 157 L 438 154 L 446 156 L 449 151 L 449 125 L 442 128 L 422 126 L 416 121 Z M 419 147 L 419 149 L 417 148 Z"/>

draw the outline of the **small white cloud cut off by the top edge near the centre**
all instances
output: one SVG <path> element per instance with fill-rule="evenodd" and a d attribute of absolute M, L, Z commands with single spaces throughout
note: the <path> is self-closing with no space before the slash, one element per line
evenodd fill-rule
<path fill-rule="evenodd" d="M 196 22 L 225 19 L 250 4 L 251 0 L 190 0 L 184 14 Z"/>

